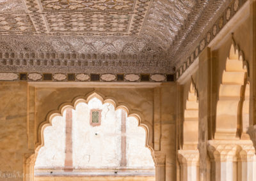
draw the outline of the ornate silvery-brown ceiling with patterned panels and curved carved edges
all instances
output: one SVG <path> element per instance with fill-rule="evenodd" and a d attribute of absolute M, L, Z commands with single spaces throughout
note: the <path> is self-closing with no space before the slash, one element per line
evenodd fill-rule
<path fill-rule="evenodd" d="M 174 73 L 231 1 L 1 0 L 0 71 Z"/>

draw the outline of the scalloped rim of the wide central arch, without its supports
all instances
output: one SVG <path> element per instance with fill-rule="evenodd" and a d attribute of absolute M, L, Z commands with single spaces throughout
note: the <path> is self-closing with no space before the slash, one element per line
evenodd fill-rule
<path fill-rule="evenodd" d="M 115 110 L 118 110 L 118 109 L 125 110 L 125 112 L 127 112 L 127 117 L 135 117 L 138 120 L 138 126 L 143 127 L 145 129 L 145 132 L 146 132 L 145 146 L 149 148 L 152 156 L 154 156 L 154 149 L 148 144 L 148 140 L 152 140 L 152 126 L 150 126 L 150 124 L 144 121 L 143 115 L 136 110 L 132 110 L 129 105 L 125 103 L 117 103 L 115 98 L 111 98 L 111 97 L 105 98 L 102 94 L 95 91 L 87 94 L 86 96 L 76 97 L 70 103 L 63 103 L 62 105 L 60 105 L 58 110 L 54 110 L 47 114 L 46 120 L 42 122 L 38 127 L 38 143 L 36 143 L 36 149 L 35 149 L 36 155 L 38 150 L 44 146 L 44 129 L 47 126 L 52 125 L 51 120 L 56 116 L 62 116 L 65 109 L 72 108 L 75 110 L 76 105 L 78 103 L 88 104 L 88 102 L 93 98 L 99 99 L 102 102 L 102 104 L 111 103 L 115 107 Z"/>

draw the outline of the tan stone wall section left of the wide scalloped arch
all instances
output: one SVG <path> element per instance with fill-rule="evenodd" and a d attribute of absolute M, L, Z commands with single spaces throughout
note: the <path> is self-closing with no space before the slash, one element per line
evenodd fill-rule
<path fill-rule="evenodd" d="M 0 82 L 0 180 L 22 180 L 28 150 L 27 83 Z"/>

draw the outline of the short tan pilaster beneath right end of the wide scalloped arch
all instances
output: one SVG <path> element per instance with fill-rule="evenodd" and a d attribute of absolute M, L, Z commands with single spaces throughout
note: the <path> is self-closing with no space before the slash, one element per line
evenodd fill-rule
<path fill-rule="evenodd" d="M 156 181 L 165 181 L 165 154 L 154 154 L 155 166 L 156 166 Z"/>

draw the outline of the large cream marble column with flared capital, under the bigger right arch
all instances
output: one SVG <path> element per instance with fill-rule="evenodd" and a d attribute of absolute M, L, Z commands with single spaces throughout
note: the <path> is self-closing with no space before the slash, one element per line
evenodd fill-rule
<path fill-rule="evenodd" d="M 209 140 L 212 180 L 253 181 L 255 150 L 250 140 Z M 250 167 L 250 168 L 249 168 Z"/>

